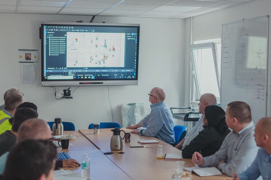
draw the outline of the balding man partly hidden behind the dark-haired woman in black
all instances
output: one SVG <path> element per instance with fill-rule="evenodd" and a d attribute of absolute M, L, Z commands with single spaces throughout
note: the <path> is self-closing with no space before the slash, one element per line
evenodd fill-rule
<path fill-rule="evenodd" d="M 216 105 L 216 96 L 212 93 L 205 93 L 201 95 L 200 102 L 198 103 L 199 112 L 204 113 L 205 107 L 210 105 Z M 189 131 L 188 134 L 175 146 L 177 149 L 183 149 L 186 145 L 189 145 L 190 142 L 198 135 L 200 131 L 203 130 L 203 120 L 202 117 L 198 120 L 196 125 Z"/>

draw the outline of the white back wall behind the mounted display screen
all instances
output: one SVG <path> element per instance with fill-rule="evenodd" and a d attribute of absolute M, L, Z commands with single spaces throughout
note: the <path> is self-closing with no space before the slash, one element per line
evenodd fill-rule
<path fill-rule="evenodd" d="M 76 129 L 87 128 L 92 122 L 112 121 L 107 86 L 80 86 L 73 99 L 55 99 L 55 90 L 41 87 L 41 21 L 89 22 L 92 16 L 64 16 L 41 14 L 0 14 L 0 104 L 4 92 L 17 87 L 24 93 L 24 101 L 38 107 L 39 118 L 53 121 L 61 117 L 73 122 Z M 158 86 L 167 92 L 169 107 L 183 105 L 184 100 L 184 57 L 185 20 L 95 17 L 93 22 L 139 23 L 139 85 L 109 86 L 110 101 L 115 122 L 121 123 L 122 103 L 148 103 L 148 92 Z M 37 80 L 35 84 L 20 83 L 18 49 L 38 49 Z M 75 89 L 75 87 L 72 87 Z M 67 87 L 56 87 L 63 92 Z"/>

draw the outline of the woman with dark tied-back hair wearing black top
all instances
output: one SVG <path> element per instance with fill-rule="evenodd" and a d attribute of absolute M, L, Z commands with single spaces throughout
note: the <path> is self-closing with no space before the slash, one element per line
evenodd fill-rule
<path fill-rule="evenodd" d="M 221 107 L 205 107 L 202 118 L 204 129 L 182 150 L 183 158 L 192 158 L 194 152 L 200 152 L 203 157 L 213 155 L 230 132 L 225 121 L 225 111 Z"/>

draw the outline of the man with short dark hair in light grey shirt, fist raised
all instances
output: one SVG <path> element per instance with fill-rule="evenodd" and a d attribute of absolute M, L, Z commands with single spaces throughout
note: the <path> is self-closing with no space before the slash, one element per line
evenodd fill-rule
<path fill-rule="evenodd" d="M 211 156 L 203 158 L 195 152 L 192 162 L 200 167 L 216 167 L 228 176 L 242 173 L 254 161 L 258 148 L 253 134 L 254 124 L 247 103 L 233 101 L 226 109 L 226 123 L 232 129 L 220 149 Z"/>

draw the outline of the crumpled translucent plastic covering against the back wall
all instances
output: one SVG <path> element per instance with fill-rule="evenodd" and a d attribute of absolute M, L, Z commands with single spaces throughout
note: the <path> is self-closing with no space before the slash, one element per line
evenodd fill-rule
<path fill-rule="evenodd" d="M 144 103 L 122 104 L 120 108 L 122 127 L 126 128 L 129 125 L 137 124 L 150 112 L 151 107 L 149 104 Z"/>

